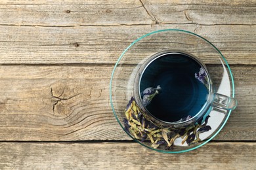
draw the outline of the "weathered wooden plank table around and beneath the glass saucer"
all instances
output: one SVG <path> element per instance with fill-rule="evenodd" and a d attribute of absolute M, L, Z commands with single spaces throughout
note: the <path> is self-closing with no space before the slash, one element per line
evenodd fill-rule
<path fill-rule="evenodd" d="M 162 154 L 117 124 L 109 83 L 141 35 L 179 28 L 230 63 L 238 107 L 205 146 Z M 256 1 L 0 2 L 0 169 L 255 169 Z"/>

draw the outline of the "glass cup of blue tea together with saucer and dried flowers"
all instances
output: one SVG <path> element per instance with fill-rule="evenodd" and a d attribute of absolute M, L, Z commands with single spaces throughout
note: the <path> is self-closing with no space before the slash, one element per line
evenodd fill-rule
<path fill-rule="evenodd" d="M 236 107 L 234 78 L 223 54 L 200 35 L 153 31 L 117 60 L 110 104 L 119 125 L 138 143 L 186 152 L 209 142 L 226 124 Z"/>

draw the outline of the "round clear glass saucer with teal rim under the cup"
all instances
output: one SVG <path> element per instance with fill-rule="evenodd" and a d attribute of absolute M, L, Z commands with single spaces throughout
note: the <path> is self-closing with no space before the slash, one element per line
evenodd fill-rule
<path fill-rule="evenodd" d="M 137 143 L 159 152 L 187 152 L 211 141 L 226 124 L 231 110 L 213 107 L 209 112 L 207 122 L 202 122 L 202 124 L 207 124 L 211 128 L 203 133 L 197 133 L 199 131 L 195 129 L 194 133 L 198 136 L 196 137 L 196 142 L 192 141 L 192 143 L 188 142 L 188 138 L 191 135 L 183 133 L 182 135 L 176 135 L 171 140 L 171 146 L 166 146 L 166 144 L 169 144 L 169 141 L 163 140 L 163 138 L 166 139 L 166 137 L 163 137 L 163 132 L 161 132 L 163 129 L 160 129 L 160 132 L 155 132 L 160 127 L 154 127 L 151 131 L 147 131 L 148 136 L 142 137 L 143 134 L 140 133 L 140 130 L 144 128 L 143 130 L 145 131 L 150 127 L 142 128 L 143 122 L 140 121 L 135 122 L 136 127 L 134 127 L 135 129 L 139 128 L 139 132 L 129 129 L 131 125 L 127 126 L 127 115 L 125 115 L 125 112 L 127 112 L 127 109 L 137 106 L 135 101 L 133 101 L 135 77 L 142 63 L 150 58 L 150 56 L 163 50 L 182 51 L 198 57 L 207 66 L 211 78 L 215 82 L 215 92 L 234 97 L 234 80 L 228 62 L 211 42 L 189 31 L 163 29 L 143 35 L 123 51 L 112 72 L 110 103 L 117 122 L 127 135 Z M 166 133 L 172 134 L 173 131 L 167 131 Z"/>

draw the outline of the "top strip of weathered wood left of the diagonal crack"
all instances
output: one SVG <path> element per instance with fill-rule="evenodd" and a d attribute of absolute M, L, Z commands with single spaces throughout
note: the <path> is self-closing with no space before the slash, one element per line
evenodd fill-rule
<path fill-rule="evenodd" d="M 153 24 L 140 1 L 48 1 L 0 3 L 0 25 Z"/>

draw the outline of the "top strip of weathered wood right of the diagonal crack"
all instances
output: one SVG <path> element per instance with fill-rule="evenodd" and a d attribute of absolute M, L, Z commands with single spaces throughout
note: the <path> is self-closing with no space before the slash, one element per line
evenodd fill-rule
<path fill-rule="evenodd" d="M 255 24 L 255 1 L 154 1 L 142 0 L 158 23 Z M 185 16 L 185 18 L 184 18 Z M 175 19 L 174 19 L 175 18 Z M 220 19 L 221 18 L 221 19 Z"/>

